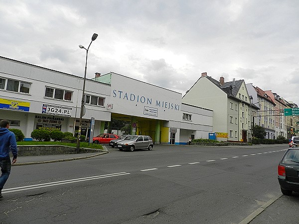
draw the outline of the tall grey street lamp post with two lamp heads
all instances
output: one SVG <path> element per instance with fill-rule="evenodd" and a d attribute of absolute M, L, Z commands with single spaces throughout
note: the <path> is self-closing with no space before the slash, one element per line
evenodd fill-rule
<path fill-rule="evenodd" d="M 78 130 L 78 136 L 77 136 L 77 147 L 76 147 L 76 152 L 79 153 L 79 149 L 80 149 L 80 135 L 81 135 L 81 127 L 82 127 L 82 116 L 84 116 L 85 114 L 85 101 L 86 101 L 86 97 L 85 97 L 85 81 L 86 81 L 86 70 L 87 70 L 87 55 L 88 55 L 88 50 L 89 50 L 89 47 L 92 43 L 92 41 L 94 41 L 95 39 L 97 39 L 98 37 L 98 34 L 94 33 L 92 35 L 92 38 L 91 38 L 91 42 L 88 46 L 88 48 L 86 49 L 84 46 L 82 45 L 79 45 L 79 47 L 82 49 L 85 49 L 86 50 L 86 61 L 85 61 L 85 72 L 84 72 L 84 81 L 83 81 L 83 92 L 82 92 L 82 99 L 81 99 L 81 109 L 80 109 L 80 120 L 79 120 L 79 130 Z M 84 111 L 84 114 L 83 114 L 83 111 Z"/>

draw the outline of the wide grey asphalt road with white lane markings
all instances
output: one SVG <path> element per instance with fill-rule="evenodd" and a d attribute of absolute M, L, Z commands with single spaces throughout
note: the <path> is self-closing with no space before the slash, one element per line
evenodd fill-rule
<path fill-rule="evenodd" d="M 15 166 L 0 223 L 237 224 L 281 196 L 277 165 L 285 149 L 109 147 L 99 157 Z M 252 223 L 267 220 L 267 211 Z"/>

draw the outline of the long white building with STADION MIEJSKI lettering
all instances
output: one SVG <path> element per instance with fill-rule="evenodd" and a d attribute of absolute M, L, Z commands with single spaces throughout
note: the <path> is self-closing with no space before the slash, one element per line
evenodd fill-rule
<path fill-rule="evenodd" d="M 78 130 L 83 78 L 0 57 L 0 119 L 22 130 Z M 111 119 L 130 121 L 132 134 L 155 143 L 186 144 L 188 137 L 208 138 L 213 111 L 181 103 L 181 94 L 119 74 L 86 80 L 82 134 L 95 118 L 94 136 Z"/>

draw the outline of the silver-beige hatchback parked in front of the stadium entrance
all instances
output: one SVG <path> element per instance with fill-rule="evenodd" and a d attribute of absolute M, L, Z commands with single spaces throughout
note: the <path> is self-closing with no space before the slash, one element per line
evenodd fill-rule
<path fill-rule="evenodd" d="M 152 149 L 153 143 L 152 139 L 148 135 L 131 135 L 126 139 L 117 143 L 117 147 L 119 150 L 127 149 L 133 152 L 135 149 L 147 148 L 149 150 Z"/>

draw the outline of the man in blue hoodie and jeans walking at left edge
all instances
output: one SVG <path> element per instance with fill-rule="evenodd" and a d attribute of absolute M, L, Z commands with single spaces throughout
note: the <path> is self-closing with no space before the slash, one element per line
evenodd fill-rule
<path fill-rule="evenodd" d="M 9 121 L 1 120 L 0 121 L 0 167 L 1 167 L 2 174 L 0 176 L 0 199 L 3 198 L 1 191 L 10 174 L 11 164 L 16 162 L 16 156 L 17 156 L 15 135 L 12 131 L 8 130 L 8 128 L 9 128 Z M 12 162 L 10 161 L 9 151 L 11 151 L 13 155 Z"/>

